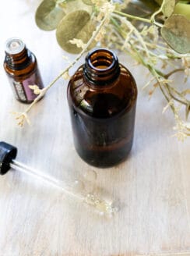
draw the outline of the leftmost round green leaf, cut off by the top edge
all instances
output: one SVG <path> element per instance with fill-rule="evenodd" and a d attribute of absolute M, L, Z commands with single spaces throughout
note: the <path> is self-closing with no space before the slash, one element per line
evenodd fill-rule
<path fill-rule="evenodd" d="M 55 0 L 44 0 L 37 8 L 35 20 L 41 30 L 55 30 L 65 12 Z"/>

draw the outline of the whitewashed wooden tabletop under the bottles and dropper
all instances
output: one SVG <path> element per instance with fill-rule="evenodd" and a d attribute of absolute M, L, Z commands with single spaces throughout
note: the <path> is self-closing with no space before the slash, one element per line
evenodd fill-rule
<path fill-rule="evenodd" d="M 95 170 L 95 192 L 116 200 L 119 212 L 106 219 L 39 180 L 8 172 L 0 177 L 0 255 L 190 255 L 190 138 L 181 143 L 171 137 L 174 119 L 170 111 L 162 114 L 162 94 L 156 91 L 149 101 L 141 89 L 145 69 L 120 55 L 139 87 L 135 140 L 121 165 L 95 169 L 76 154 L 67 81 L 59 80 L 33 108 L 31 126 L 16 126 L 10 112 L 26 105 L 13 98 L 2 67 L 5 40 L 23 39 L 37 56 L 45 85 L 66 65 L 55 31 L 41 31 L 34 23 L 38 3 L 1 3 L 0 140 L 19 148 L 17 160 L 65 184 L 85 180 L 83 174 Z"/>

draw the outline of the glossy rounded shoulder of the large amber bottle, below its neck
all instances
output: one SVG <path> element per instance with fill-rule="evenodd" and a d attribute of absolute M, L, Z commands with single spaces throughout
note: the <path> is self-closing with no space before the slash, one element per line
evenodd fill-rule
<path fill-rule="evenodd" d="M 132 108 L 137 97 L 135 80 L 124 66 L 120 65 L 120 69 L 120 76 L 113 83 L 99 87 L 88 83 L 80 66 L 69 81 L 69 104 L 76 111 L 97 118 L 108 118 Z"/>

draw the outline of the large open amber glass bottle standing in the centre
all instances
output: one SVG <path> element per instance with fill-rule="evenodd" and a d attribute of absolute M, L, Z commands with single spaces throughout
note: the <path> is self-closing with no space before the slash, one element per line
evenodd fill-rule
<path fill-rule="evenodd" d="M 122 162 L 132 148 L 137 87 L 114 52 L 95 49 L 68 86 L 74 144 L 79 156 L 101 168 Z"/>

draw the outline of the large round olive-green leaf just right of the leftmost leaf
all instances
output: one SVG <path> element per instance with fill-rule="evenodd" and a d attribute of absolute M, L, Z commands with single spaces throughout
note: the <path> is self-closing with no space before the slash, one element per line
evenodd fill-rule
<path fill-rule="evenodd" d="M 71 44 L 69 41 L 77 38 L 86 43 L 92 36 L 93 30 L 94 26 L 90 21 L 89 12 L 84 10 L 70 12 L 58 24 L 56 31 L 58 44 L 66 52 L 79 53 L 82 48 L 77 48 L 76 44 Z"/>

